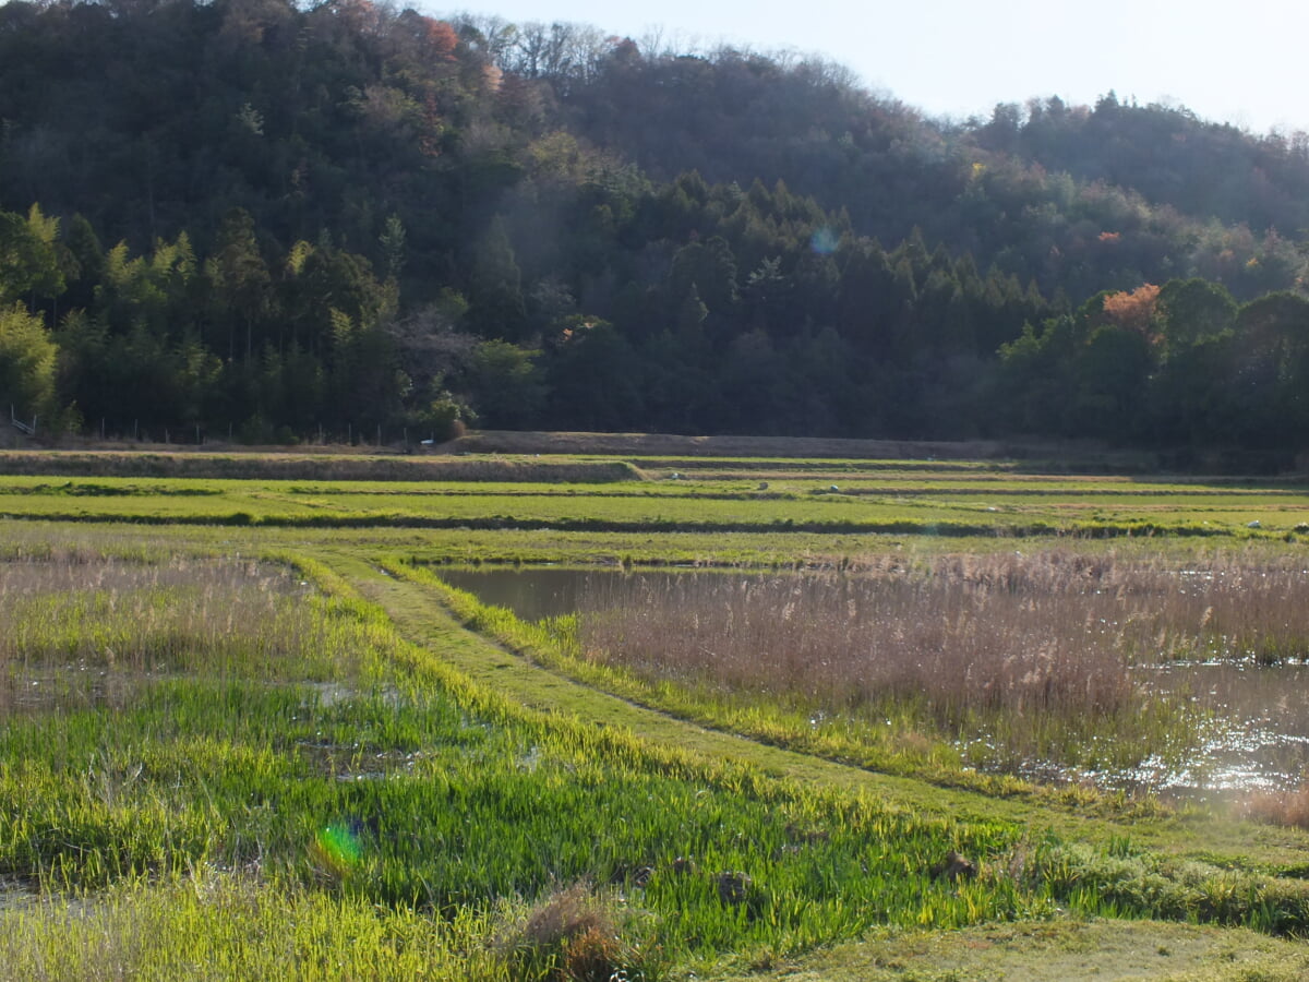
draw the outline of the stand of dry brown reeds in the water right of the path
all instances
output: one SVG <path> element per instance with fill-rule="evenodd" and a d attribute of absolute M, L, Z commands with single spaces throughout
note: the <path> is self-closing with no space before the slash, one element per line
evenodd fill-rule
<path fill-rule="evenodd" d="M 915 570 L 868 560 L 859 575 L 634 577 L 597 583 L 580 639 L 590 657 L 648 680 L 819 715 L 907 711 L 954 738 L 1013 741 L 1011 758 L 1046 759 L 1042 720 L 1098 728 L 1102 742 L 1149 727 L 1173 740 L 1134 665 L 1304 657 L 1309 576 L 1291 560 L 1177 570 L 1050 551 Z"/>

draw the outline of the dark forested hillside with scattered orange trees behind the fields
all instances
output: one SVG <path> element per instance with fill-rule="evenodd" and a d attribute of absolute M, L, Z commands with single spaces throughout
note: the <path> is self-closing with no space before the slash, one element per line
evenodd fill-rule
<path fill-rule="evenodd" d="M 644 48 L 641 46 L 644 43 Z M 1309 439 L 1309 139 L 368 0 L 0 7 L 47 435 Z"/>

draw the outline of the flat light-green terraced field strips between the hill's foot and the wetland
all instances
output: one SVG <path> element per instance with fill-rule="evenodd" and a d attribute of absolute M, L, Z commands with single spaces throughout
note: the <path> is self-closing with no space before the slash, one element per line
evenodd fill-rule
<path fill-rule="evenodd" d="M 357 466 L 357 461 L 353 462 Z M 526 462 L 518 462 L 526 464 Z M 62 521 L 321 528 L 534 528 L 624 532 L 809 530 L 923 536 L 1263 538 L 1309 533 L 1302 486 L 1169 483 L 922 466 L 742 475 L 645 470 L 602 483 L 554 481 L 276 481 L 0 478 L 0 515 Z M 721 462 L 725 467 L 729 461 Z M 792 467 L 795 462 L 789 462 Z M 576 467 L 590 466 L 579 461 Z M 514 464 L 492 461 L 512 473 Z M 275 471 L 276 473 L 276 471 Z M 567 474 L 567 469 L 560 469 Z M 550 471 L 545 471 L 548 478 Z M 1251 522 L 1257 526 L 1251 529 Z M 1261 536 L 1249 533 L 1259 532 Z"/>

